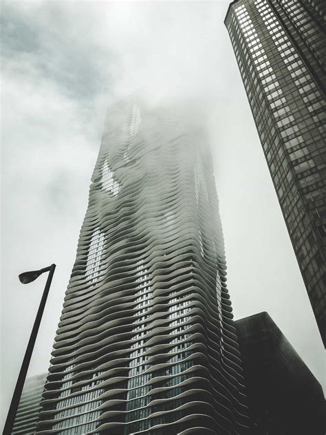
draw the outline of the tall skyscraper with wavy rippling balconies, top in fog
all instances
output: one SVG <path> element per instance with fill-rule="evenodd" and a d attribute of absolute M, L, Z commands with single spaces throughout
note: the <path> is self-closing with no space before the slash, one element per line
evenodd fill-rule
<path fill-rule="evenodd" d="M 246 429 L 213 167 L 177 112 L 107 114 L 39 435 Z"/>

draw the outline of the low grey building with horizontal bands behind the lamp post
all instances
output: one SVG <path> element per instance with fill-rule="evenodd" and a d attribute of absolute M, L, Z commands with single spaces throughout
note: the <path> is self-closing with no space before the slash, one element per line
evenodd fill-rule
<path fill-rule="evenodd" d="M 35 434 L 46 376 L 47 373 L 43 373 L 26 379 L 12 428 L 13 435 Z"/>

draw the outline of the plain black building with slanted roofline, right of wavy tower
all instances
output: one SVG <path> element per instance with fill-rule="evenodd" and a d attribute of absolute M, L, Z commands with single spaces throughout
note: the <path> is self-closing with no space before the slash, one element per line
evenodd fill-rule
<path fill-rule="evenodd" d="M 325 434 L 323 390 L 267 312 L 235 321 L 252 435 Z"/>

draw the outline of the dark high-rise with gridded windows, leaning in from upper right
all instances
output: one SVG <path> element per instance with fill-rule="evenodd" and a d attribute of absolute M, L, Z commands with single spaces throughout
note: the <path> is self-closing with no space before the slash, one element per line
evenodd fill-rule
<path fill-rule="evenodd" d="M 238 0 L 226 28 L 326 346 L 325 6 Z"/>

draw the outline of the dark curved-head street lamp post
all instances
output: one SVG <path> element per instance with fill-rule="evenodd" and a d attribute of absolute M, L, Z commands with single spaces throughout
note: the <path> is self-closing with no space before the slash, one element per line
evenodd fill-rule
<path fill-rule="evenodd" d="M 52 277 L 54 274 L 54 269 L 56 268 L 55 264 L 51 264 L 51 266 L 45 267 L 40 270 L 32 270 L 30 272 L 24 272 L 19 275 L 19 281 L 22 284 L 29 284 L 38 278 L 42 273 L 49 272 L 47 275 L 47 281 L 45 283 L 43 296 L 40 302 L 39 310 L 37 311 L 34 326 L 30 335 L 30 340 L 28 341 L 28 346 L 26 348 L 25 356 L 23 359 L 23 363 L 21 364 L 21 371 L 19 372 L 16 387 L 14 388 L 14 394 L 12 395 L 12 400 L 10 403 L 7 419 L 5 426 L 3 427 L 3 435 L 11 435 L 12 427 L 14 426 L 14 419 L 16 417 L 17 408 L 19 405 L 19 401 L 21 399 L 21 392 L 23 391 L 23 386 L 26 379 L 26 374 L 28 372 L 28 366 L 30 365 L 30 359 L 32 357 L 32 352 L 34 349 L 34 344 L 36 341 L 37 332 L 39 332 L 39 327 L 45 307 L 45 303 L 47 300 L 47 295 L 49 294 Z"/>

